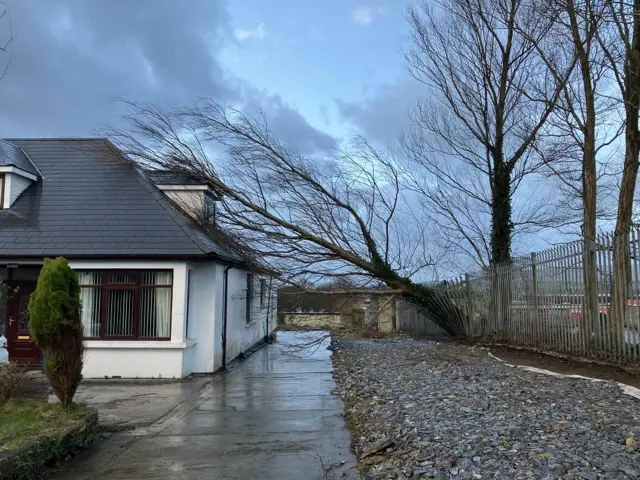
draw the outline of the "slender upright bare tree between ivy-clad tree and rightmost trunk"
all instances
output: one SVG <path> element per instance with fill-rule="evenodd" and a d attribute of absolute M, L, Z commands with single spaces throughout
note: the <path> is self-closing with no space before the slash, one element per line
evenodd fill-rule
<path fill-rule="evenodd" d="M 530 4 L 530 8 L 536 17 L 545 19 L 552 27 L 544 37 L 538 38 L 527 31 L 528 25 L 518 26 L 518 29 L 534 45 L 551 77 L 562 88 L 548 118 L 544 141 L 536 148 L 559 186 L 564 187 L 565 201 L 576 199 L 580 203 L 585 285 L 585 325 L 582 331 L 599 332 L 597 186 L 599 180 L 607 175 L 610 158 L 606 150 L 621 134 L 617 102 L 611 96 L 606 52 L 598 41 L 598 33 L 603 28 L 605 2 L 536 1 Z"/>

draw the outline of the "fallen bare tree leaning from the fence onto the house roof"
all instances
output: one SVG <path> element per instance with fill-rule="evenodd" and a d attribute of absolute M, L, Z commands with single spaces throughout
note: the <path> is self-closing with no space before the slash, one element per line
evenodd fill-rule
<path fill-rule="evenodd" d="M 130 106 L 131 128 L 110 132 L 123 152 L 140 168 L 214 185 L 223 197 L 219 227 L 282 280 L 349 277 L 370 294 L 382 282 L 385 293 L 407 296 L 449 333 L 463 333 L 457 307 L 416 280 L 429 278 L 441 252 L 406 201 L 393 159 L 362 140 L 334 155 L 305 154 L 278 140 L 261 113 L 207 98 L 172 112 Z"/>

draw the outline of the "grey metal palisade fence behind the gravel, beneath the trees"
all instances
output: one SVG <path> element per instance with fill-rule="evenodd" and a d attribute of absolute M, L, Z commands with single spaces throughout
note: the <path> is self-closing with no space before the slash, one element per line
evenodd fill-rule
<path fill-rule="evenodd" d="M 630 232 L 631 278 L 624 320 L 611 317 L 613 235 L 590 248 L 596 262 L 597 313 L 585 314 L 584 243 L 559 245 L 442 284 L 466 312 L 465 334 L 616 362 L 640 362 L 640 230 Z M 398 329 L 433 336 L 443 330 L 398 303 Z"/>

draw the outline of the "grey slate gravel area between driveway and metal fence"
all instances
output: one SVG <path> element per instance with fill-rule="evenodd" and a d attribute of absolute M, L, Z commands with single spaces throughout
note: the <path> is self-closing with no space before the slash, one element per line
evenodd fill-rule
<path fill-rule="evenodd" d="M 640 479 L 640 401 L 612 382 L 417 340 L 333 343 L 366 478 Z"/>

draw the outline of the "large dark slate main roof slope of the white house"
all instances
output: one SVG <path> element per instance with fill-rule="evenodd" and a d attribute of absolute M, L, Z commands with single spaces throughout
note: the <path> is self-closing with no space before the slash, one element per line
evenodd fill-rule
<path fill-rule="evenodd" d="M 42 178 L 11 208 L 0 210 L 0 257 L 193 256 L 241 262 L 179 213 L 108 140 L 8 141 L 28 154 Z"/>

